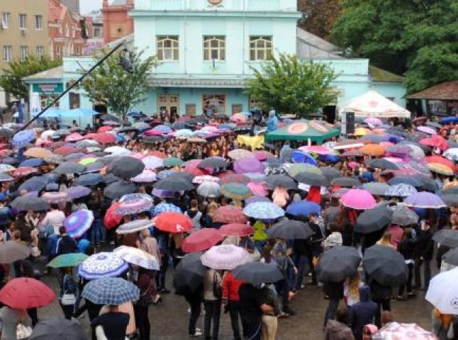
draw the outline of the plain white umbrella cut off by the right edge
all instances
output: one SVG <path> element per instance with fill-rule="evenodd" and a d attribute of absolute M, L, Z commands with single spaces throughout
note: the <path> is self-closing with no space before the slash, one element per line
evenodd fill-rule
<path fill-rule="evenodd" d="M 430 281 L 426 300 L 432 303 L 441 313 L 458 314 L 458 268 L 437 274 Z"/>

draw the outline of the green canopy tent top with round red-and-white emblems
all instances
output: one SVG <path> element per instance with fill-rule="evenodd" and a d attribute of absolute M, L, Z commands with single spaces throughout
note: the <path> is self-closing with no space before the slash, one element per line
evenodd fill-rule
<path fill-rule="evenodd" d="M 325 140 L 338 135 L 340 135 L 340 131 L 331 128 L 327 123 L 302 119 L 267 133 L 265 140 L 266 142 L 274 140 L 310 140 L 317 144 L 323 144 Z"/>

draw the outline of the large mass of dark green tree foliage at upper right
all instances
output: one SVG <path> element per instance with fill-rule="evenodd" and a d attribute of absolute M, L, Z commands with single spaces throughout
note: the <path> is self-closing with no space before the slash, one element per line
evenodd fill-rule
<path fill-rule="evenodd" d="M 408 92 L 458 79 L 455 0 L 342 0 L 333 28 L 341 47 L 404 74 Z"/>

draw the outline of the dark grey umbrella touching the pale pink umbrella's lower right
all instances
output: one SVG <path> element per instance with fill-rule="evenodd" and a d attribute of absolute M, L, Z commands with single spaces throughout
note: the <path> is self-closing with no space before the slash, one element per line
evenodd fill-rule
<path fill-rule="evenodd" d="M 253 285 L 261 283 L 275 283 L 284 278 L 277 266 L 271 263 L 248 262 L 244 263 L 232 271 L 233 276 L 239 280 L 244 280 Z"/>

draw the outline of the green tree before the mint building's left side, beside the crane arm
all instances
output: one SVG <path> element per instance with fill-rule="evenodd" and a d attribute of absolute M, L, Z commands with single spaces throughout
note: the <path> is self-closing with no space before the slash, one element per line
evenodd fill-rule
<path fill-rule="evenodd" d="M 121 53 L 108 57 L 82 81 L 82 86 L 92 103 L 105 104 L 111 112 L 124 119 L 135 103 L 144 98 L 148 88 L 147 77 L 157 62 L 155 57 L 143 58 L 143 52 L 133 51 L 130 52 L 132 72 L 126 72 L 121 64 Z"/>

